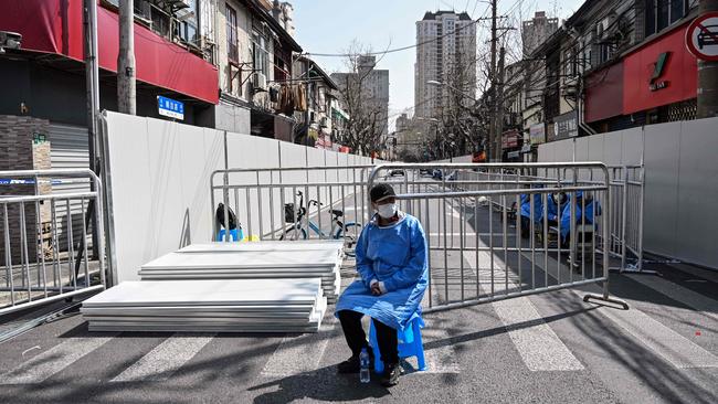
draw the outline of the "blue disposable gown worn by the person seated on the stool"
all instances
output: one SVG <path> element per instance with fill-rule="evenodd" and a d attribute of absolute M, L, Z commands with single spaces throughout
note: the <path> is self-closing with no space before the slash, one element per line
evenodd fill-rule
<path fill-rule="evenodd" d="M 353 310 L 391 328 L 404 329 L 421 315 L 421 300 L 429 285 L 426 241 L 421 224 L 409 214 L 386 227 L 371 221 L 359 236 L 356 254 L 361 278 L 341 294 L 336 312 Z M 383 281 L 387 293 L 373 296 L 369 288 L 372 279 Z"/>

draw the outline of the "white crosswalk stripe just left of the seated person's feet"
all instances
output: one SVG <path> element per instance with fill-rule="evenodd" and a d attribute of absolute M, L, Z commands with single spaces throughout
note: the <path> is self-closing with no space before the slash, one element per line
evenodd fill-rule
<path fill-rule="evenodd" d="M 329 334 L 334 331 L 337 322 L 334 309 L 327 310 L 319 332 L 285 337 L 262 369 L 261 374 L 267 378 L 287 378 L 317 370 L 324 352 L 327 350 Z"/>

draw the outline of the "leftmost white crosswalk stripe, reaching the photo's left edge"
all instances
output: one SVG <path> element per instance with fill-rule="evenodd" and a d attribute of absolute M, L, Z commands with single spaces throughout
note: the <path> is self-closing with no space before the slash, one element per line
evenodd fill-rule
<path fill-rule="evenodd" d="M 73 337 L 0 376 L 0 384 L 42 383 L 105 344 L 113 337 Z"/>

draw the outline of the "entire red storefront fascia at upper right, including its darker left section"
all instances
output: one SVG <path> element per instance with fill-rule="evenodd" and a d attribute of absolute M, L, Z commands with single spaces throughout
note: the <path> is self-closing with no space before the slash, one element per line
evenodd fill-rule
<path fill-rule="evenodd" d="M 680 119 L 672 111 L 695 100 L 698 84 L 697 61 L 685 44 L 687 26 L 676 26 L 591 74 L 587 78 L 585 121 Z"/>

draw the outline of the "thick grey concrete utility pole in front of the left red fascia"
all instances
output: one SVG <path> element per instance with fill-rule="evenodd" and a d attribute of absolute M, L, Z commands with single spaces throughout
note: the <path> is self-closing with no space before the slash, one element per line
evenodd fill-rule
<path fill-rule="evenodd" d="M 137 114 L 135 82 L 134 0 L 119 0 L 119 54 L 117 55 L 117 106 L 123 114 Z"/>

